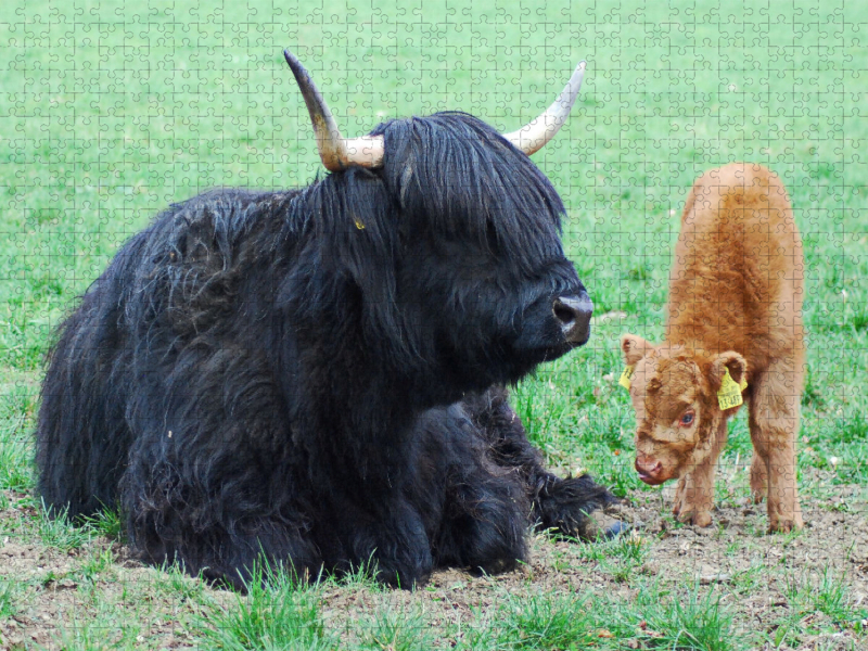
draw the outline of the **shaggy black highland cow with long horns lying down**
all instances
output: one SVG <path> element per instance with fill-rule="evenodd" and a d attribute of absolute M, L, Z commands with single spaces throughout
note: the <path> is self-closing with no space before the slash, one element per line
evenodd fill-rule
<path fill-rule="evenodd" d="M 202 194 L 124 245 L 51 354 L 46 505 L 119 505 L 142 558 L 241 587 L 260 556 L 409 587 L 513 567 L 535 522 L 587 534 L 613 497 L 547 472 L 500 388 L 589 334 L 563 205 L 513 144 L 583 66 L 507 138 L 441 113 L 344 140 L 286 59 L 334 174 Z"/>

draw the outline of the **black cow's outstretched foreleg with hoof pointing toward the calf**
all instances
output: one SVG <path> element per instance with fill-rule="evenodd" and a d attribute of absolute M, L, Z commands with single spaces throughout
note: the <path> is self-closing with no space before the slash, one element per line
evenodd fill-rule
<path fill-rule="evenodd" d="M 546 470 L 542 455 L 527 441 L 506 390 L 489 390 L 469 400 L 468 409 L 483 431 L 492 459 L 522 477 L 532 502 L 531 518 L 538 527 L 584 539 L 611 537 L 626 529 L 623 522 L 599 512 L 618 500 L 592 477 L 561 478 Z"/>

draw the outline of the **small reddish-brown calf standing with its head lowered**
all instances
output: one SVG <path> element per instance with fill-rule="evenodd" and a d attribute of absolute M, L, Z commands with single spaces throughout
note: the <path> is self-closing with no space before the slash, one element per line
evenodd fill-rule
<path fill-rule="evenodd" d="M 802 526 L 795 438 L 803 269 L 802 241 L 775 174 L 735 163 L 697 180 L 669 275 L 666 341 L 621 340 L 634 367 L 637 471 L 649 484 L 679 478 L 674 512 L 682 522 L 712 521 L 714 468 L 727 420 L 739 409 L 717 403 L 728 369 L 736 382 L 748 382 L 753 497 L 768 498 L 770 529 Z"/>

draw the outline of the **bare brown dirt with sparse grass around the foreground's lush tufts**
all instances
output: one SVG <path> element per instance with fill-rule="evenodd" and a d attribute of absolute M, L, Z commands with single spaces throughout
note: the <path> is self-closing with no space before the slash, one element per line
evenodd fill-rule
<path fill-rule="evenodd" d="M 682 526 L 662 492 L 623 507 L 634 531 L 616 545 L 577 545 L 534 536 L 519 571 L 474 577 L 436 573 L 416 591 L 367 582 L 321 588 L 327 624 L 350 641 L 372 613 L 418 613 L 444 648 L 496 625 L 502 607 L 539 595 L 591 595 L 634 603 L 649 586 L 674 595 L 711 591 L 746 644 L 768 649 L 868 648 L 859 620 L 868 605 L 868 499 L 863 486 L 808 477 L 808 523 L 800 534 L 767 535 L 764 505 L 724 490 L 711 527 Z M 105 647 L 186 649 L 201 644 L 196 616 L 237 597 L 177 572 L 144 566 L 126 547 L 95 537 L 68 551 L 46 546 L 29 498 L 7 493 L 0 511 L 0 648 L 62 648 L 81 635 Z M 4 592 L 5 590 L 5 592 Z M 605 635 L 602 630 L 600 635 Z M 624 648 L 642 648 L 623 639 Z M 776 646 L 779 644 L 779 646 Z"/>

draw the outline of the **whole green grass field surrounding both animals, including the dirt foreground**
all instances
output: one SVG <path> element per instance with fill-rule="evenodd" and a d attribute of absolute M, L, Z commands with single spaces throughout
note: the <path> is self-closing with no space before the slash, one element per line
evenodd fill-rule
<path fill-rule="evenodd" d="M 37 2 L 0 5 L 0 648 L 868 648 L 868 5 L 857 2 Z M 116 514 L 73 527 L 34 495 L 52 331 L 119 244 L 216 186 L 318 174 L 282 61 L 309 66 L 345 133 L 461 108 L 503 130 L 579 59 L 573 116 L 534 161 L 569 210 L 590 343 L 514 390 L 563 472 L 628 498 L 635 533 L 534 538 L 522 571 L 365 573 L 247 597 L 143 567 Z M 617 336 L 659 340 L 678 215 L 729 161 L 787 184 L 805 242 L 808 374 L 799 473 L 810 526 L 766 536 L 731 423 L 710 529 L 673 522 L 631 470 Z M 269 570 L 263 570 L 269 572 Z"/>

